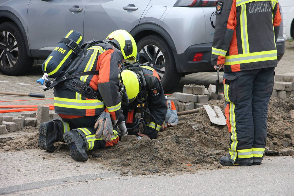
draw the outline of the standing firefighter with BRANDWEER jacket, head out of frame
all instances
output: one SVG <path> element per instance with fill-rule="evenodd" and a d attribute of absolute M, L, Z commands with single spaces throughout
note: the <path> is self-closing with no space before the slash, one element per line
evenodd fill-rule
<path fill-rule="evenodd" d="M 267 134 L 268 102 L 277 66 L 278 0 L 224 0 L 216 7 L 212 65 L 224 68 L 225 115 L 230 133 L 222 165 L 259 165 Z"/>

